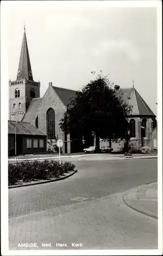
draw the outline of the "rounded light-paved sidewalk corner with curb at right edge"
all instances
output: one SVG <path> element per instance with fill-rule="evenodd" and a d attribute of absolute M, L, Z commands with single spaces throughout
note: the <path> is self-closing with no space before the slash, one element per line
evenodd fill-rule
<path fill-rule="evenodd" d="M 124 195 L 125 203 L 135 210 L 158 218 L 157 182 L 134 187 Z"/>

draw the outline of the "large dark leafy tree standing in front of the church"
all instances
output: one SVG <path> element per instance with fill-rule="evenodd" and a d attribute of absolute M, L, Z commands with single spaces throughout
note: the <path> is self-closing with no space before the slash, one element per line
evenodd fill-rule
<path fill-rule="evenodd" d="M 131 106 L 113 88 L 108 76 L 99 74 L 71 99 L 60 127 L 65 133 L 73 134 L 74 138 L 96 135 L 98 152 L 100 138 L 115 142 L 129 139 L 127 118 L 131 111 Z"/>

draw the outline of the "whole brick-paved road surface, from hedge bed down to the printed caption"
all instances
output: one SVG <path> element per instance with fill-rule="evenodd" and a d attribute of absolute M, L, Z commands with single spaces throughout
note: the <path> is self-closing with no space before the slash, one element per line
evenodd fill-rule
<path fill-rule="evenodd" d="M 157 181 L 157 159 L 77 159 L 71 161 L 78 173 L 66 180 L 9 189 L 10 249 L 23 249 L 19 242 L 39 249 L 63 249 L 56 243 L 67 243 L 64 249 L 156 249 L 157 220 L 129 208 L 122 196 Z"/>

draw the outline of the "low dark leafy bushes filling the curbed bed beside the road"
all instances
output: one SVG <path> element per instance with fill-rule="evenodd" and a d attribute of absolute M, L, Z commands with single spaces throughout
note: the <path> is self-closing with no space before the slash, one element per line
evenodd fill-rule
<path fill-rule="evenodd" d="M 19 182 L 55 179 L 74 170 L 75 165 L 71 162 L 60 164 L 59 161 L 54 160 L 9 163 L 8 185 L 15 185 Z"/>

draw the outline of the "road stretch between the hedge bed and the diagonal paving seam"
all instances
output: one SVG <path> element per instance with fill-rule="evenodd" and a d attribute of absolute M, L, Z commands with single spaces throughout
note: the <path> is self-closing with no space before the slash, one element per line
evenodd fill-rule
<path fill-rule="evenodd" d="M 71 161 L 78 173 L 68 179 L 9 189 L 9 217 L 77 203 L 79 197 L 91 201 L 157 181 L 157 159 Z"/>

